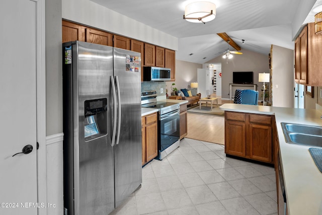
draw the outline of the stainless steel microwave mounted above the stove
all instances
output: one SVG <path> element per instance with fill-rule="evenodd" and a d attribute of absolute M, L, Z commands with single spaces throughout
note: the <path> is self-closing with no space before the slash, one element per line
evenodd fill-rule
<path fill-rule="evenodd" d="M 143 81 L 170 81 L 171 68 L 144 66 Z"/>

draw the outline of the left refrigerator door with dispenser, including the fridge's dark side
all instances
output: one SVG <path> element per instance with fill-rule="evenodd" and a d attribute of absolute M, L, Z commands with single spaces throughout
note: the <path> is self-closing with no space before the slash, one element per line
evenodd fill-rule
<path fill-rule="evenodd" d="M 114 201 L 114 148 L 111 147 L 113 48 L 71 42 L 64 60 L 64 206 L 68 214 L 109 214 Z M 65 52 L 65 58 L 66 55 Z M 63 61 L 63 62 L 64 62 Z M 85 137 L 86 101 L 107 100 L 93 113 L 99 134 Z M 90 108 L 99 103 L 91 102 Z M 72 127 L 72 128 L 71 128 Z"/>

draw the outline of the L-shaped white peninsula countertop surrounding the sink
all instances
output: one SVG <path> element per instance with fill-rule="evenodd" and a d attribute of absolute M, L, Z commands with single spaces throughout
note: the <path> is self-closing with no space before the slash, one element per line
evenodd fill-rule
<path fill-rule="evenodd" d="M 288 212 L 322 214 L 322 173 L 314 164 L 310 147 L 286 143 L 281 126 L 281 122 L 322 126 L 321 111 L 241 104 L 223 104 L 220 109 L 275 115 Z"/>

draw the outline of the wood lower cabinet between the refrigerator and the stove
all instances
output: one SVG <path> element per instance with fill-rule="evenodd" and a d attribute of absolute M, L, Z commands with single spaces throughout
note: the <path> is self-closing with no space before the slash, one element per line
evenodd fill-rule
<path fill-rule="evenodd" d="M 157 113 L 142 116 L 142 166 L 157 156 Z"/>

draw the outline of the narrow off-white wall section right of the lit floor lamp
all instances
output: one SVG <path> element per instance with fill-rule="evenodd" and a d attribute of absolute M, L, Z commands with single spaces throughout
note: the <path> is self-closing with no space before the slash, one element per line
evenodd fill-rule
<path fill-rule="evenodd" d="M 292 49 L 272 45 L 273 106 L 293 107 L 294 54 Z"/>

